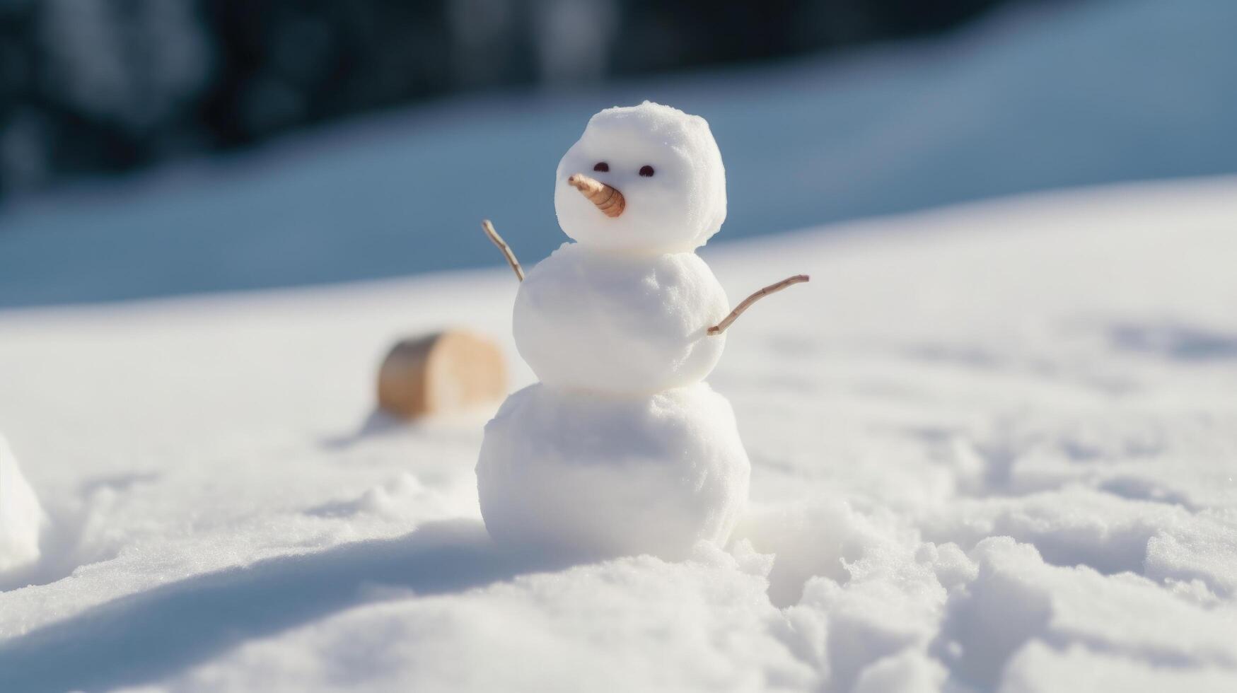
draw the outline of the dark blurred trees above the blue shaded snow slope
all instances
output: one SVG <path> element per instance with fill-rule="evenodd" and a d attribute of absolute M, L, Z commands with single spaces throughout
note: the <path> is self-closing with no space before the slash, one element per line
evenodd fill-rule
<path fill-rule="evenodd" d="M 7 0 L 0 196 L 416 99 L 830 50 L 1004 0 Z"/>

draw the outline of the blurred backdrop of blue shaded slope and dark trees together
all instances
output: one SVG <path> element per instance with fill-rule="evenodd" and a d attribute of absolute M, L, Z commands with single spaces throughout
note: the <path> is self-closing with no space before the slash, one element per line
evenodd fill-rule
<path fill-rule="evenodd" d="M 1232 0 L 4 0 L 0 307 L 501 262 L 589 115 L 704 115 L 715 243 L 1237 171 Z"/>

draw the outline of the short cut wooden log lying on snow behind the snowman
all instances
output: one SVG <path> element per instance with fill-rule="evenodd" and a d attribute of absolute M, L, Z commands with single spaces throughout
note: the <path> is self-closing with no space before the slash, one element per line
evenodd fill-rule
<path fill-rule="evenodd" d="M 401 418 L 460 412 L 506 394 L 502 350 L 465 330 L 403 339 L 379 369 L 379 406 Z"/>

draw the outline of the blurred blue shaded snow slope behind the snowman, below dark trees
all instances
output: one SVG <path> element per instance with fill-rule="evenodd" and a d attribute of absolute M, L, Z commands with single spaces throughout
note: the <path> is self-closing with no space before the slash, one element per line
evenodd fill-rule
<path fill-rule="evenodd" d="M 0 210 L 0 306 L 499 265 L 480 217 L 542 257 L 555 162 L 591 114 L 643 99 L 709 120 L 719 240 L 1237 172 L 1237 2 L 1039 5 L 841 59 L 455 99 L 30 199 Z"/>

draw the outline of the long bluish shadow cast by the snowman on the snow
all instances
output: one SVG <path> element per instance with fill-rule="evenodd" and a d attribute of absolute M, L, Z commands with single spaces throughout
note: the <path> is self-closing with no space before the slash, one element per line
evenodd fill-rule
<path fill-rule="evenodd" d="M 92 608 L 0 646 L 0 691 L 104 689 L 157 681 L 247 639 L 365 601 L 386 584 L 448 594 L 565 568 L 565 557 L 496 547 L 476 521 L 430 522 L 208 573 Z"/>

